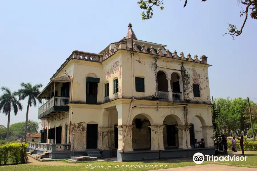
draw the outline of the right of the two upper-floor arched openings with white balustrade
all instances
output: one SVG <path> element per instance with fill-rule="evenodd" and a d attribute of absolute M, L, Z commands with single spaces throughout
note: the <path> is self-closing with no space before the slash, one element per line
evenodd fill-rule
<path fill-rule="evenodd" d="M 170 76 L 170 85 L 172 89 L 172 99 L 173 101 L 181 101 L 182 100 L 182 93 L 180 92 L 180 76 L 173 72 Z"/>

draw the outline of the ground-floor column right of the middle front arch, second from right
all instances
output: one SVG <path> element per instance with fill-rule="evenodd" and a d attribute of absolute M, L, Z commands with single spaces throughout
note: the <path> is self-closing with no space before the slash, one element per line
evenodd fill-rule
<path fill-rule="evenodd" d="M 176 126 L 178 128 L 178 148 L 191 148 L 189 128 L 191 126 L 182 125 Z"/>

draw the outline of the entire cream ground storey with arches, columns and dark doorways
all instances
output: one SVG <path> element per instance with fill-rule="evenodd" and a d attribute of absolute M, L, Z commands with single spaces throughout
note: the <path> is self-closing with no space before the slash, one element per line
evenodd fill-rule
<path fill-rule="evenodd" d="M 69 104 L 69 113 L 48 120 L 46 143 L 70 143 L 75 152 L 98 148 L 119 161 L 214 154 L 211 106 L 160 103 Z M 194 139 L 204 139 L 205 148 L 195 149 Z"/>

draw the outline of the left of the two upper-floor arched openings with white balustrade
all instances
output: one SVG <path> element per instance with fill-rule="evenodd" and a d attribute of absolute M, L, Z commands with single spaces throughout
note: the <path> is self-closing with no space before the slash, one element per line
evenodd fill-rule
<path fill-rule="evenodd" d="M 157 85 L 159 100 L 168 100 L 168 81 L 163 71 L 157 72 Z"/>

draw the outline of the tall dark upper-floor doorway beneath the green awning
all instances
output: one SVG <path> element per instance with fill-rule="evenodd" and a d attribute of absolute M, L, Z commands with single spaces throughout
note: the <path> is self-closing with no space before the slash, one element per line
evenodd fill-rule
<path fill-rule="evenodd" d="M 87 104 L 97 104 L 97 83 L 87 82 Z"/>

